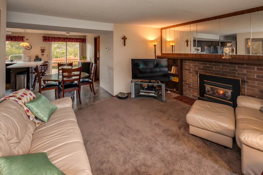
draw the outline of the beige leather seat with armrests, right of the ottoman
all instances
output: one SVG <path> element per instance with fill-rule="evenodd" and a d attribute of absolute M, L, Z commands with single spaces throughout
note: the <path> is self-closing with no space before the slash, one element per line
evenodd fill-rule
<path fill-rule="evenodd" d="M 247 96 L 237 98 L 236 142 L 241 148 L 244 175 L 259 175 L 263 171 L 263 100 Z"/>

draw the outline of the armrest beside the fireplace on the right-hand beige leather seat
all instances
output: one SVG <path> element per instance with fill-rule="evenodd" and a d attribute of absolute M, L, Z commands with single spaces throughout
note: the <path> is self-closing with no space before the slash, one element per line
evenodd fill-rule
<path fill-rule="evenodd" d="M 248 96 L 238 96 L 237 106 L 246 106 L 259 110 L 263 106 L 263 99 Z"/>

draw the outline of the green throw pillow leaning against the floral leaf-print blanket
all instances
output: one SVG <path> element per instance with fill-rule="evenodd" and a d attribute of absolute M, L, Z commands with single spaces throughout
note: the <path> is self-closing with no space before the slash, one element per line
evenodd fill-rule
<path fill-rule="evenodd" d="M 46 123 L 48 122 L 50 115 L 58 109 L 57 106 L 51 104 L 42 94 L 37 94 L 37 97 L 30 102 L 25 103 L 25 105 L 34 116 Z"/>

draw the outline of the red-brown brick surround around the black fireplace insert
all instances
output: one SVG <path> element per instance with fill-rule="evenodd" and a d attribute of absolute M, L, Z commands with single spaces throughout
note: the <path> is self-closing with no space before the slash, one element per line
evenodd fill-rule
<path fill-rule="evenodd" d="M 241 95 L 263 99 L 263 65 L 183 60 L 184 95 L 197 99 L 198 72 L 241 79 Z"/>

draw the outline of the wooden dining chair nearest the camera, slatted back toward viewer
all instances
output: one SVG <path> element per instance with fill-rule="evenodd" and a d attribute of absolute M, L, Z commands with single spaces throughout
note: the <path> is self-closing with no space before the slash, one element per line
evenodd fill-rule
<path fill-rule="evenodd" d="M 82 67 L 80 66 L 79 68 L 74 68 L 74 69 L 69 69 L 69 68 L 62 68 L 62 85 L 60 85 L 60 98 L 64 98 L 64 93 L 65 92 L 71 92 L 71 91 L 76 91 L 76 96 L 79 98 L 79 103 L 81 104 L 80 100 L 80 77 L 81 77 L 81 69 Z M 73 74 L 73 72 L 79 72 L 78 74 Z M 74 77 L 74 78 L 73 78 Z M 68 82 L 74 82 L 77 81 L 77 83 L 68 83 Z"/>

